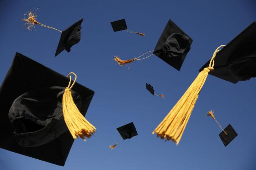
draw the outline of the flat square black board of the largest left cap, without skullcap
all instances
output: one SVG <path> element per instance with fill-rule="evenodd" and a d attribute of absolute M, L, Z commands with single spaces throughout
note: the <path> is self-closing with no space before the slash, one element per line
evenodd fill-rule
<path fill-rule="evenodd" d="M 66 87 L 68 84 L 68 77 L 16 53 L 0 86 L 0 148 L 63 166 L 74 141 L 69 131 L 59 135 L 52 142 L 37 147 L 23 147 L 14 137 L 15 129 L 8 113 L 14 100 L 28 91 L 52 86 Z M 77 82 L 72 90 L 79 94 L 82 102 L 79 111 L 85 115 L 94 91 Z"/>

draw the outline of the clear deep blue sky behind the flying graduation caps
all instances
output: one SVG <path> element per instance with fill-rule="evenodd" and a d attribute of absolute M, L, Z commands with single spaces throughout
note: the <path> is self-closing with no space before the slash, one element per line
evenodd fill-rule
<path fill-rule="evenodd" d="M 40 26 L 30 32 L 21 21 L 35 7 L 39 22 L 60 30 L 84 18 L 81 42 L 55 58 L 60 33 Z M 232 84 L 209 75 L 180 144 L 152 135 L 213 51 L 255 21 L 255 9 L 255 0 L 1 0 L 0 83 L 16 51 L 62 75 L 75 72 L 80 84 L 95 91 L 86 118 L 97 132 L 74 142 L 64 167 L 0 149 L 0 169 L 255 170 L 255 78 Z M 114 33 L 110 22 L 123 18 L 145 37 Z M 131 59 L 153 50 L 168 19 L 193 39 L 180 72 L 156 56 L 130 69 L 113 61 L 116 54 Z M 166 98 L 151 95 L 145 82 Z M 231 123 L 238 133 L 227 147 L 216 122 L 206 118 L 210 109 L 223 127 Z M 116 128 L 131 121 L 139 135 L 109 149 L 119 139 Z"/>

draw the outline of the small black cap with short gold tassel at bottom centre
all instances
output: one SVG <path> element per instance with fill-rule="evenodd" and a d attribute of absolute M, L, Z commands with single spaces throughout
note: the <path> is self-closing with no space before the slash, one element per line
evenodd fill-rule
<path fill-rule="evenodd" d="M 119 128 L 116 128 L 116 130 L 120 133 L 123 140 L 131 139 L 132 137 L 138 135 L 137 130 L 136 130 L 133 122 L 128 123 L 128 124 L 126 124 L 124 126 L 121 126 Z M 119 143 L 119 141 L 116 142 L 116 144 L 109 146 L 109 148 L 114 149 L 118 143 Z"/>

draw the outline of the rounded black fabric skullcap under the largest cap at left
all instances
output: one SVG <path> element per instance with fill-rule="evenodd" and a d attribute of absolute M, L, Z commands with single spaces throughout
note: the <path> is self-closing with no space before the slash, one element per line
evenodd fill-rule
<path fill-rule="evenodd" d="M 14 100 L 9 120 L 19 145 L 36 147 L 55 140 L 68 129 L 63 118 L 64 87 L 36 88 Z M 72 91 L 73 100 L 80 109 L 81 98 Z"/>

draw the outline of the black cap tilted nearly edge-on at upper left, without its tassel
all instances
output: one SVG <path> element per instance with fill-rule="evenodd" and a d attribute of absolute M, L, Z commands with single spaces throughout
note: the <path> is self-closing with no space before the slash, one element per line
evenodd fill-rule
<path fill-rule="evenodd" d="M 64 49 L 69 52 L 70 48 L 77 44 L 81 39 L 81 23 L 83 19 L 77 21 L 72 26 L 62 31 L 58 47 L 55 52 L 55 57 L 59 55 Z"/>

